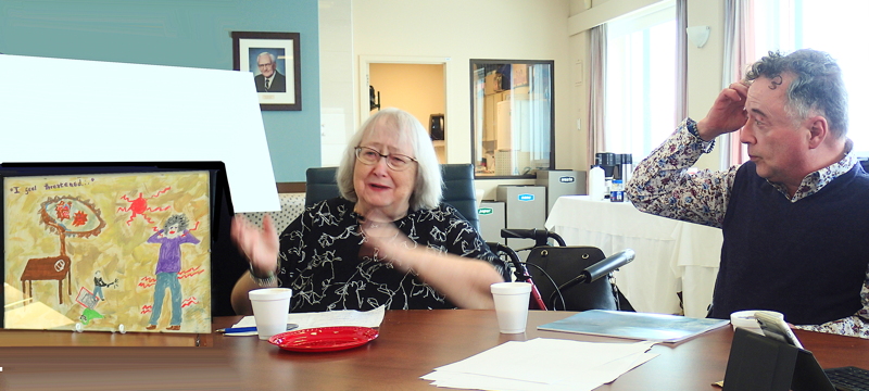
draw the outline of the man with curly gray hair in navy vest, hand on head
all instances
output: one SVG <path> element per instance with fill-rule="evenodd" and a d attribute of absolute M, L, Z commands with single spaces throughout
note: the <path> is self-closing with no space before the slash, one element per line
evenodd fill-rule
<path fill-rule="evenodd" d="M 748 162 L 688 172 L 740 129 Z M 869 338 L 869 175 L 846 133 L 835 61 L 770 52 L 637 166 L 637 209 L 722 230 L 710 317 L 770 310 L 798 328 Z"/>

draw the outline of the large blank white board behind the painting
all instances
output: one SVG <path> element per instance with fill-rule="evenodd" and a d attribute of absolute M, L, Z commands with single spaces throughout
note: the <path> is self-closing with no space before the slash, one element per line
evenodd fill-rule
<path fill-rule="evenodd" d="M 223 161 L 236 212 L 279 211 L 252 77 L 0 55 L 0 163 Z"/>

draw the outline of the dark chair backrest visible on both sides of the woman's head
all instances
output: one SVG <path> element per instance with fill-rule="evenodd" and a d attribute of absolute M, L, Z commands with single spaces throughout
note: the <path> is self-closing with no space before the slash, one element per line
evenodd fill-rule
<path fill-rule="evenodd" d="M 338 167 L 307 168 L 305 177 L 305 207 L 340 195 L 335 173 Z M 473 164 L 441 164 L 443 174 L 443 202 L 453 205 L 474 228 L 480 229 L 477 216 L 477 192 L 474 188 Z"/>

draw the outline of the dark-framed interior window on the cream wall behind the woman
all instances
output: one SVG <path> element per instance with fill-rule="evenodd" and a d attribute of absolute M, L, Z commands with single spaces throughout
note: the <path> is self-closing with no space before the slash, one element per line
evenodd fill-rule
<path fill-rule="evenodd" d="M 470 60 L 471 154 L 478 178 L 555 166 L 553 61 Z"/>

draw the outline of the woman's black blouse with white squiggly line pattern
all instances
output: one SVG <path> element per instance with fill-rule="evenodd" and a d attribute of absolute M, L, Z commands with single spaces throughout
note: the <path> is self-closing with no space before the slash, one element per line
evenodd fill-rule
<path fill-rule="evenodd" d="M 305 210 L 280 235 L 278 285 L 292 288 L 291 312 L 455 308 L 413 273 L 360 256 L 363 236 L 354 203 L 342 198 Z M 482 237 L 453 207 L 441 204 L 394 222 L 417 247 L 479 258 L 503 270 Z"/>

